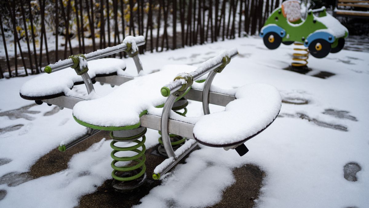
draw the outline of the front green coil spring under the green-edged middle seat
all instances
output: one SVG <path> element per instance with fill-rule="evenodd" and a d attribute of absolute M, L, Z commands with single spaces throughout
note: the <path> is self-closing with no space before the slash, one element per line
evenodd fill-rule
<path fill-rule="evenodd" d="M 146 141 L 146 137 L 145 137 L 145 133 L 146 133 L 146 128 L 144 129 L 144 131 L 142 131 L 140 134 L 132 136 L 132 137 L 114 137 L 113 136 L 113 131 L 110 132 L 110 137 L 113 138 L 114 140 L 118 140 L 118 141 L 111 141 L 110 143 L 110 147 L 113 148 L 113 151 L 111 152 L 110 156 L 111 158 L 113 158 L 113 162 L 111 162 L 111 167 L 114 169 L 113 172 L 111 172 L 111 176 L 118 181 L 132 181 L 135 180 L 139 177 L 141 177 L 145 171 L 146 171 L 146 165 L 145 165 L 145 161 L 146 161 L 146 156 L 145 156 L 145 151 L 146 151 L 146 147 L 145 147 L 145 141 Z M 142 140 L 139 141 L 138 139 L 142 137 Z M 136 142 L 137 144 L 131 147 L 117 147 L 114 144 L 117 142 Z M 142 147 L 142 150 L 138 150 L 139 147 Z M 132 156 L 132 157 L 117 157 L 115 156 L 115 153 L 120 152 L 120 151 L 133 151 L 136 152 L 137 154 Z M 141 158 L 141 159 L 140 159 Z M 117 163 L 118 161 L 135 161 L 137 162 L 136 165 L 133 166 L 123 166 L 123 167 L 118 167 L 115 165 L 115 163 Z M 117 172 L 128 172 L 128 171 L 134 171 L 138 168 L 141 168 L 141 172 L 139 172 L 136 175 L 130 176 L 130 177 L 119 177 L 117 176 Z"/>

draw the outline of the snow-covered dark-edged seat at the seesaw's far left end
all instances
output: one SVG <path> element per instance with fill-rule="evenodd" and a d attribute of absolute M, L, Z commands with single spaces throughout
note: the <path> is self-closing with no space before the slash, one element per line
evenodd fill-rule
<path fill-rule="evenodd" d="M 125 61 L 119 58 L 100 58 L 88 61 L 87 72 L 94 81 L 95 77 L 119 74 L 125 70 Z M 23 84 L 20 95 L 27 100 L 44 100 L 67 95 L 74 85 L 83 84 L 81 76 L 74 69 L 66 68 L 51 74 L 41 74 Z"/>

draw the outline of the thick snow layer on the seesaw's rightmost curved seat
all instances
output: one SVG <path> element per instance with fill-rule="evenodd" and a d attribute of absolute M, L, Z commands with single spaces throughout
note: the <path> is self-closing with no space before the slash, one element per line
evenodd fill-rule
<path fill-rule="evenodd" d="M 244 85 L 235 97 L 225 111 L 204 115 L 197 121 L 193 128 L 196 140 L 211 145 L 245 140 L 277 117 L 282 101 L 278 90 L 267 84 Z"/>

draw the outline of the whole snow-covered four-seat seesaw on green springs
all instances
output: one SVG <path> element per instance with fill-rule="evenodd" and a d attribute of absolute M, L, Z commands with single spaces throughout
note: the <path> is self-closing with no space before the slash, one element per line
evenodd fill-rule
<path fill-rule="evenodd" d="M 73 109 L 75 121 L 87 127 L 84 137 L 62 141 L 60 151 L 98 131 L 111 131 L 115 189 L 132 190 L 145 182 L 146 128 L 161 131 L 161 141 L 168 155 L 154 170 L 152 177 L 158 180 L 198 144 L 235 149 L 241 156 L 246 154 L 248 149 L 244 142 L 265 130 L 279 114 L 281 97 L 270 85 L 246 84 L 232 90 L 211 88 L 215 75 L 237 56 L 237 49 L 220 51 L 199 67 L 167 65 L 158 72 L 145 74 L 138 58 L 138 46 L 143 44 L 143 36 L 128 36 L 117 46 L 70 56 L 45 67 L 44 71 L 51 74 L 29 80 L 20 90 L 24 99 Z M 102 58 L 121 51 L 134 59 L 138 76 L 124 71 L 123 60 Z M 100 59 L 95 60 L 97 58 Z M 100 97 L 94 91 L 96 81 L 119 87 Z M 73 85 L 83 83 L 88 92 L 85 97 L 71 90 Z M 185 117 L 187 100 L 201 101 L 205 115 Z M 225 110 L 210 113 L 209 103 L 225 106 Z M 182 139 L 175 141 L 179 136 Z M 179 143 L 182 145 L 173 150 L 172 146 Z M 127 156 L 122 154 L 125 151 L 135 153 Z M 120 161 L 126 165 L 118 165 Z"/>

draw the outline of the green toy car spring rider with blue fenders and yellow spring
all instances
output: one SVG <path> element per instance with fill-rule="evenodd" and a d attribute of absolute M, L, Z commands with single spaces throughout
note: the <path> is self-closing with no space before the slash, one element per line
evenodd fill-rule
<path fill-rule="evenodd" d="M 300 1 L 287 0 L 269 15 L 259 35 L 269 49 L 278 48 L 280 43 L 299 46 L 294 48 L 298 52 L 293 53 L 293 61 L 297 62 L 291 66 L 293 70 L 306 71 L 309 53 L 315 58 L 338 53 L 345 45 L 348 30 L 328 14 L 325 7 L 308 10 L 306 20 L 303 20 Z"/>

